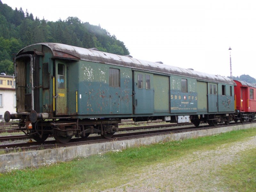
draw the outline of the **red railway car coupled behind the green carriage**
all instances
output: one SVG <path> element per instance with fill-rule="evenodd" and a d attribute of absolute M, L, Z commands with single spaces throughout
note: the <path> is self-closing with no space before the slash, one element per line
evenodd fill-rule
<path fill-rule="evenodd" d="M 235 89 L 235 121 L 245 120 L 252 122 L 256 114 L 256 84 L 236 81 Z"/>

